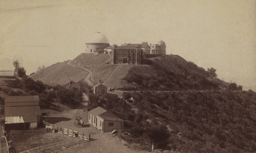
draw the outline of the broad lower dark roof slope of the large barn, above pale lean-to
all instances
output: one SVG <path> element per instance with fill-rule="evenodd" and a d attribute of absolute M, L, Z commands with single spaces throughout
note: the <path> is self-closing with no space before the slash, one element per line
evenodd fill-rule
<path fill-rule="evenodd" d="M 24 122 L 37 122 L 37 115 L 41 115 L 39 106 L 5 107 L 5 117 L 23 116 Z"/>

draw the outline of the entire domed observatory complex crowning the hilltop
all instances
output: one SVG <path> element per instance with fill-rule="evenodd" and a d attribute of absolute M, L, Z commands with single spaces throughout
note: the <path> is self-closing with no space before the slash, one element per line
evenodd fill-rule
<path fill-rule="evenodd" d="M 124 43 L 121 46 L 110 46 L 109 39 L 97 32 L 93 34 L 90 42 L 86 43 L 86 53 L 106 53 L 112 57 L 112 64 L 143 64 L 145 55 L 165 55 L 166 45 L 163 40 L 157 44 L 140 43 Z"/>

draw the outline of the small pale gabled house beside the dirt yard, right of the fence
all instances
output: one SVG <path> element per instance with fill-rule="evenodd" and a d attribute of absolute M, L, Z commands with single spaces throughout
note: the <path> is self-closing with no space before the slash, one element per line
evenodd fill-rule
<path fill-rule="evenodd" d="M 111 132 L 115 129 L 123 129 L 123 120 L 117 115 L 97 107 L 89 111 L 89 123 L 102 132 Z"/>

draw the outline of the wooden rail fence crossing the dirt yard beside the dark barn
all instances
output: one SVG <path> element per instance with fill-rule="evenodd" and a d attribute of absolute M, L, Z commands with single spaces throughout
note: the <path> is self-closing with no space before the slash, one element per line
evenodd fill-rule
<path fill-rule="evenodd" d="M 90 134 L 81 133 L 81 132 L 78 132 L 78 131 L 75 131 L 75 130 L 65 129 L 63 127 L 54 126 L 54 124 L 48 123 L 46 121 L 42 121 L 42 122 L 44 122 L 44 124 L 47 125 L 47 126 L 53 126 L 53 129 L 57 130 L 57 132 L 60 133 L 60 134 L 64 134 L 64 135 L 68 135 L 68 136 L 73 137 L 74 136 L 73 132 L 75 132 L 75 133 L 77 133 L 77 136 L 78 136 L 79 139 L 91 141 L 91 135 Z"/>

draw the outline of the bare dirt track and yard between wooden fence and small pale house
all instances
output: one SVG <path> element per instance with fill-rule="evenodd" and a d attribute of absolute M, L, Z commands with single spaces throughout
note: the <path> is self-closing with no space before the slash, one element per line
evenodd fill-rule
<path fill-rule="evenodd" d="M 53 118 L 60 118 L 58 121 L 55 120 L 54 123 L 54 125 L 58 127 L 64 127 L 70 130 L 78 131 L 79 133 L 88 133 L 91 135 L 92 141 L 59 150 L 61 152 L 146 152 L 132 150 L 127 147 L 129 144 L 119 137 L 112 135 L 111 133 L 101 133 L 94 126 L 90 125 L 88 122 L 88 111 L 86 106 L 83 104 L 79 109 L 69 109 L 51 116 Z M 84 127 L 74 126 L 75 116 L 81 116 L 85 124 Z"/>

